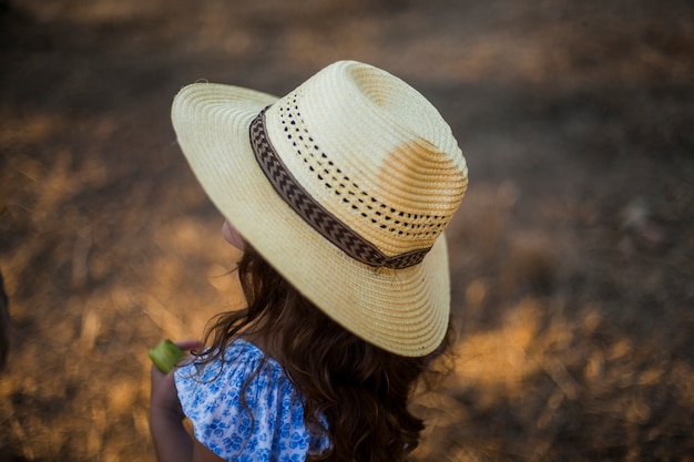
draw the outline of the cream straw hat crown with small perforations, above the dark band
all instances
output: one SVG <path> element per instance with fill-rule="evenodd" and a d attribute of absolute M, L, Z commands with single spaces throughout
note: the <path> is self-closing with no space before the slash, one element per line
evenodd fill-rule
<path fill-rule="evenodd" d="M 428 249 L 467 187 L 467 165 L 438 111 L 400 79 L 337 62 L 277 101 L 267 136 L 296 182 L 391 257 Z"/>

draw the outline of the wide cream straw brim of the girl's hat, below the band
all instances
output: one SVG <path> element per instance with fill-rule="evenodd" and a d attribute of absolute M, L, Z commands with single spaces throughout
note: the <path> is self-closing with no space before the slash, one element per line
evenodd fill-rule
<path fill-rule="evenodd" d="M 446 238 L 405 269 L 372 268 L 348 257 L 307 225 L 256 163 L 249 125 L 276 96 L 195 83 L 176 95 L 178 144 L 208 197 L 292 285 L 343 327 L 390 352 L 433 351 L 448 328 Z M 272 140 L 271 140 L 272 141 Z"/>

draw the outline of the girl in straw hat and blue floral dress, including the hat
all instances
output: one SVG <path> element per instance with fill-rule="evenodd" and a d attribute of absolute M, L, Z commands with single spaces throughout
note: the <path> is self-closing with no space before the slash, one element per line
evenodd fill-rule
<path fill-rule="evenodd" d="M 153 368 L 160 461 L 402 461 L 417 380 L 446 349 L 443 229 L 467 187 L 450 127 L 416 90 L 334 63 L 277 99 L 184 88 L 178 144 L 243 250 L 247 307 Z M 192 422 L 194 437 L 183 427 Z"/>

